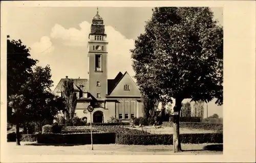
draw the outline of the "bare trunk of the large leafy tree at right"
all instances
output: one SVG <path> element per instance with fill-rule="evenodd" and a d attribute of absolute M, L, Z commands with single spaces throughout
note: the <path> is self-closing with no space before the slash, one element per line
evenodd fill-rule
<path fill-rule="evenodd" d="M 173 128 L 174 128 L 174 134 L 173 134 L 173 146 L 174 146 L 174 152 L 181 152 L 181 144 L 180 144 L 180 110 L 181 110 L 181 102 L 183 99 L 177 99 L 175 100 L 175 106 L 174 106 L 174 112 L 178 112 L 178 115 L 174 115 L 174 121 L 173 121 Z"/>

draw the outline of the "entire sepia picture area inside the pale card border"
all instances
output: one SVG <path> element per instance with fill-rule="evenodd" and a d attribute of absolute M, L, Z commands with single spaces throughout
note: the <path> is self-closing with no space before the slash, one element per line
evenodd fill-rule
<path fill-rule="evenodd" d="M 13 6 L 6 152 L 223 155 L 223 11 Z"/>

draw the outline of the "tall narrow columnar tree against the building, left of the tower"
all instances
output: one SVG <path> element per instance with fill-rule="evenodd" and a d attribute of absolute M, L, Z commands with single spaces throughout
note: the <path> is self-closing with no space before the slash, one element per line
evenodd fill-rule
<path fill-rule="evenodd" d="M 65 98 L 65 113 L 66 119 L 72 120 L 76 109 L 76 92 L 74 92 L 74 81 L 72 79 L 65 79 L 62 84 L 63 97 Z"/>

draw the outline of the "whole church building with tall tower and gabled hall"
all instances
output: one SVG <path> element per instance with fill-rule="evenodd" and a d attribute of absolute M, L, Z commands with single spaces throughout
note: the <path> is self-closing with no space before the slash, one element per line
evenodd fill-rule
<path fill-rule="evenodd" d="M 119 72 L 114 79 L 108 79 L 107 60 L 108 41 L 103 19 L 97 11 L 92 20 L 88 41 L 89 79 L 73 79 L 77 95 L 75 116 L 90 122 L 90 113 L 86 109 L 93 105 L 93 123 L 106 123 L 111 117 L 118 118 L 121 122 L 129 122 L 133 117 L 142 117 L 138 86 L 127 72 Z M 64 80 L 65 78 L 60 79 L 53 94 L 62 96 Z"/>

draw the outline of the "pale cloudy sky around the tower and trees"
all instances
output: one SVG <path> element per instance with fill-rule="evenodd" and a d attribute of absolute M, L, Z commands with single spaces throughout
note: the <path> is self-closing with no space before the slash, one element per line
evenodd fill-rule
<path fill-rule="evenodd" d="M 108 78 L 132 69 L 130 49 L 144 33 L 152 7 L 99 7 L 104 19 L 108 45 Z M 211 8 L 223 25 L 222 8 Z M 37 65 L 51 67 L 53 88 L 61 78 L 88 78 L 87 42 L 96 7 L 13 7 L 7 13 L 7 32 L 31 48 Z M 211 108 L 211 109 L 210 109 Z M 208 104 L 209 115 L 222 117 L 222 106 Z"/>

